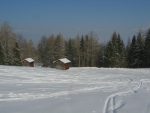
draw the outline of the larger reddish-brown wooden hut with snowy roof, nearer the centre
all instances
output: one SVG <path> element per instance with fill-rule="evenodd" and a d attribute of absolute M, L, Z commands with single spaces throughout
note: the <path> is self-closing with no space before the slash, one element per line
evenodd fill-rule
<path fill-rule="evenodd" d="M 63 69 L 63 70 L 69 69 L 70 63 L 71 63 L 71 61 L 68 60 L 67 58 L 58 59 L 53 62 L 55 68 Z"/>

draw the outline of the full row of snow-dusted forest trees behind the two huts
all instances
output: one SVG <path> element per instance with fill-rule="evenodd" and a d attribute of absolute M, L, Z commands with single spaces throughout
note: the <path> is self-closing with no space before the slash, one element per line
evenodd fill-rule
<path fill-rule="evenodd" d="M 134 35 L 124 44 L 119 33 L 102 44 L 94 33 L 66 39 L 62 34 L 43 36 L 37 46 L 17 35 L 8 24 L 0 26 L 0 64 L 22 65 L 31 57 L 43 66 L 53 67 L 60 58 L 71 60 L 73 67 L 150 67 L 150 29 Z"/>

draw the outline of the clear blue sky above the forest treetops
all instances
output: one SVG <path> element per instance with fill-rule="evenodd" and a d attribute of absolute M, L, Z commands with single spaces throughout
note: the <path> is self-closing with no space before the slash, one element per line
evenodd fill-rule
<path fill-rule="evenodd" d="M 8 22 L 25 38 L 62 33 L 66 37 L 114 31 L 124 40 L 150 27 L 149 0 L 0 0 L 0 24 Z"/>

